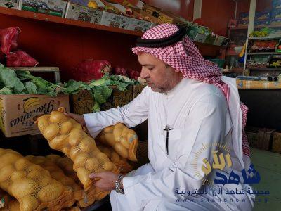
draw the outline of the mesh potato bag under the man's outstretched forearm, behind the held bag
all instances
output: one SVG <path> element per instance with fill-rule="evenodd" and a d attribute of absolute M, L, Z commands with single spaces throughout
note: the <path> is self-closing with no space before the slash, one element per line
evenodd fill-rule
<path fill-rule="evenodd" d="M 138 148 L 138 136 L 136 132 L 124 124 L 118 123 L 105 129 L 96 137 L 97 141 L 111 146 L 122 157 L 136 161 L 136 150 Z"/>

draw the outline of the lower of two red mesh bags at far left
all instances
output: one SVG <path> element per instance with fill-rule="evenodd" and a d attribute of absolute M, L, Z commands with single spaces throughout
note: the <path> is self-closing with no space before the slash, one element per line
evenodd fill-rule
<path fill-rule="evenodd" d="M 8 67 L 35 67 L 37 60 L 28 55 L 25 51 L 15 51 L 7 55 Z"/>

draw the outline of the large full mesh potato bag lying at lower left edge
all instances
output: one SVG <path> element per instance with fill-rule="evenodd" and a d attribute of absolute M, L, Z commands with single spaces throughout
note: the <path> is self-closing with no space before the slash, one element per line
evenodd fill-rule
<path fill-rule="evenodd" d="M 0 188 L 20 203 L 20 210 L 56 210 L 71 190 L 50 173 L 12 150 L 0 148 Z M 61 206 L 60 206 L 61 207 Z"/>

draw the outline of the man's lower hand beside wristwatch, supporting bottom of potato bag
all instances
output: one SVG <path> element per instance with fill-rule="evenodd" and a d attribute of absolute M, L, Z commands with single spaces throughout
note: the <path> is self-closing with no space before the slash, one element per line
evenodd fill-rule
<path fill-rule="evenodd" d="M 95 186 L 103 191 L 115 190 L 115 181 L 117 181 L 119 174 L 113 172 L 100 172 L 90 174 L 91 179 L 99 179 L 95 182 Z M 123 183 L 121 182 L 121 187 L 123 188 Z"/>

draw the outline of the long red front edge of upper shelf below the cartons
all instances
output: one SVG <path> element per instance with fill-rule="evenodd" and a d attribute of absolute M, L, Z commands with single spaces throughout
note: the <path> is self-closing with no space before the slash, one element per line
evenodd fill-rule
<path fill-rule="evenodd" d="M 11 9 L 11 8 L 0 7 L 0 14 L 12 15 L 12 16 L 17 16 L 17 17 L 21 17 L 21 18 L 30 18 L 30 19 L 34 19 L 34 20 L 43 20 L 46 22 L 60 23 L 60 24 L 64 24 L 64 25 L 73 25 L 73 26 L 77 26 L 77 27 L 92 28 L 92 29 L 96 29 L 96 30 L 105 30 L 108 32 L 131 34 L 131 35 L 135 35 L 138 37 L 141 37 L 143 35 L 142 32 L 123 30 L 123 29 L 119 29 L 119 28 L 115 28 L 115 27 L 108 27 L 105 25 L 87 23 L 87 22 L 82 22 L 79 20 L 60 18 L 60 17 L 46 15 L 46 14 L 42 14 L 42 13 L 32 13 L 30 11 L 19 11 L 19 10 L 15 10 L 15 9 Z"/>

